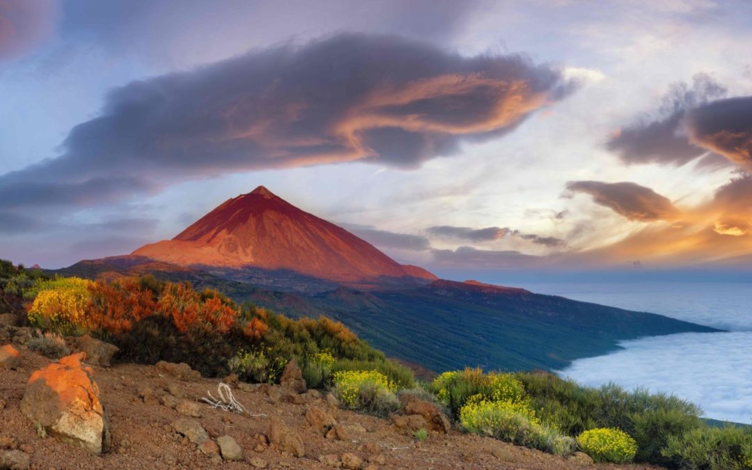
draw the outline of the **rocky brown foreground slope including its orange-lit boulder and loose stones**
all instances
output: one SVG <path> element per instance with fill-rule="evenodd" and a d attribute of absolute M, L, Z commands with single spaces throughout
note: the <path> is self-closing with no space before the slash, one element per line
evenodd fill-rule
<path fill-rule="evenodd" d="M 403 414 L 388 419 L 343 410 L 332 393 L 306 390 L 294 361 L 280 385 L 224 378 L 232 400 L 248 407 L 232 412 L 223 409 L 229 401 L 219 399 L 219 390 L 203 392 L 217 381 L 201 378 L 186 364 L 110 368 L 116 347 L 87 336 L 69 342 L 77 353 L 56 362 L 20 344 L 0 348 L 2 423 L 9 417 L 0 428 L 0 468 L 593 465 L 584 454 L 562 459 L 461 434 L 438 406 L 416 396 L 403 395 Z M 5 387 L 13 377 L 26 384 Z M 419 429 L 429 431 L 426 442 L 413 437 Z"/>

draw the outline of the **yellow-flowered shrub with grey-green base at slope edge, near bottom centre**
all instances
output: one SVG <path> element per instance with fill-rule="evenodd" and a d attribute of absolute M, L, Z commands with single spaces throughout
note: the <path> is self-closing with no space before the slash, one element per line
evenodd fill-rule
<path fill-rule="evenodd" d="M 334 393 L 342 405 L 384 416 L 401 408 L 396 385 L 378 371 L 338 371 L 333 375 Z"/>

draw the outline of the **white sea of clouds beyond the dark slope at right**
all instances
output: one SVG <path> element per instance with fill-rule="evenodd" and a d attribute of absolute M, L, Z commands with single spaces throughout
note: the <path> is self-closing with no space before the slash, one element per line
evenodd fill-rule
<path fill-rule="evenodd" d="M 614 382 L 673 393 L 705 417 L 752 423 L 752 286 L 737 283 L 592 283 L 526 286 L 539 293 L 649 311 L 726 329 L 622 341 L 623 350 L 559 371 L 584 385 Z"/>

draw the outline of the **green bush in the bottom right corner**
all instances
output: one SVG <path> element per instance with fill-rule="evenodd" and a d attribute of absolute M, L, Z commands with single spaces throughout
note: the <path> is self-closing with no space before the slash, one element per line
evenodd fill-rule
<path fill-rule="evenodd" d="M 752 468 L 752 430 L 736 426 L 702 426 L 672 435 L 662 455 L 680 468 L 749 470 Z"/>

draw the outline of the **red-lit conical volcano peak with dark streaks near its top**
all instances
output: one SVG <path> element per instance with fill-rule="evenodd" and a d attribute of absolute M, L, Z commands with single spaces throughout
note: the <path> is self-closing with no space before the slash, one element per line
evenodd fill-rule
<path fill-rule="evenodd" d="M 132 256 L 177 265 L 285 269 L 344 283 L 436 279 L 423 268 L 400 265 L 264 186 L 228 199 L 172 240 L 144 245 Z"/>

